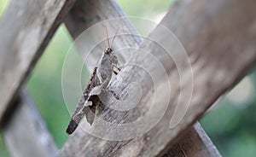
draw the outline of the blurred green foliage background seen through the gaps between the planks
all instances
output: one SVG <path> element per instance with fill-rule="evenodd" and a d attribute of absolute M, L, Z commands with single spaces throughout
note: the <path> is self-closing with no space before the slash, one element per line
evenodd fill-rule
<path fill-rule="evenodd" d="M 126 15 L 159 21 L 172 0 L 118 0 Z M 0 0 L 0 17 L 9 1 Z M 69 113 L 61 93 L 61 67 L 72 38 L 61 26 L 38 61 L 26 88 L 46 121 L 59 148 L 67 140 Z M 84 78 L 85 79 L 85 78 Z M 212 142 L 223 156 L 256 155 L 256 72 L 251 70 L 201 119 Z M 9 156 L 0 137 L 0 156 Z"/>

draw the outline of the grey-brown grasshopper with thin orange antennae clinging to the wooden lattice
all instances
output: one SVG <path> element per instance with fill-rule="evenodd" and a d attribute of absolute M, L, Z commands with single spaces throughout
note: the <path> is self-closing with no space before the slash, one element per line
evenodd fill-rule
<path fill-rule="evenodd" d="M 117 74 L 113 70 L 113 67 L 116 67 L 118 70 L 120 70 L 119 67 L 117 67 L 118 58 L 113 53 L 113 49 L 110 48 L 107 26 L 105 26 L 105 28 L 108 39 L 108 48 L 103 51 L 103 55 L 99 61 L 99 64 L 94 68 L 93 73 L 90 75 L 89 82 L 84 88 L 79 103 L 72 115 L 69 125 L 67 126 L 66 132 L 69 135 L 76 130 L 84 115 L 90 125 L 92 125 L 95 118 L 97 102 L 100 102 L 98 96 L 102 93 L 102 90 L 107 90 L 113 73 Z M 115 37 L 116 35 L 113 37 L 113 39 Z"/>

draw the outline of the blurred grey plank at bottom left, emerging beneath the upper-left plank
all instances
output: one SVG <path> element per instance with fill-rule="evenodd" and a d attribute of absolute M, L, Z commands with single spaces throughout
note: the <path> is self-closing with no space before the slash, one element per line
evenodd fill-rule
<path fill-rule="evenodd" d="M 20 102 L 17 102 L 15 111 L 9 118 L 3 127 L 3 138 L 11 156 L 56 155 L 57 146 L 26 90 L 22 90 Z"/>

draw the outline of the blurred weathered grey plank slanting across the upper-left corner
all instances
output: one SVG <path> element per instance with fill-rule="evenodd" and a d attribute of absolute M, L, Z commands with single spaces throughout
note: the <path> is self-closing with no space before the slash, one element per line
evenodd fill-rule
<path fill-rule="evenodd" d="M 0 20 L 0 125 L 75 0 L 11 1 Z"/>

